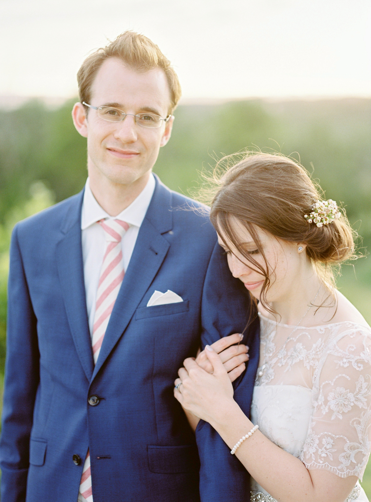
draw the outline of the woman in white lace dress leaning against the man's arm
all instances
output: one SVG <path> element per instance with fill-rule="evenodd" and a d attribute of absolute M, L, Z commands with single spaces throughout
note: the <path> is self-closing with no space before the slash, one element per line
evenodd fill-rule
<path fill-rule="evenodd" d="M 371 328 L 334 287 L 354 254 L 333 200 L 281 155 L 248 154 L 217 180 L 211 220 L 234 277 L 257 304 L 260 362 L 247 417 L 220 356 L 184 361 L 174 396 L 209 422 L 251 474 L 251 501 L 367 501 Z"/>

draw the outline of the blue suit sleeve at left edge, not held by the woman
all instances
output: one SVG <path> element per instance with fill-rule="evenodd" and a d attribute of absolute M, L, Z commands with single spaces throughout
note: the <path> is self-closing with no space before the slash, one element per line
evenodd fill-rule
<path fill-rule="evenodd" d="M 1 499 L 4 502 L 26 499 L 39 358 L 36 317 L 23 268 L 17 225 L 10 249 L 7 358 L 0 440 Z"/>

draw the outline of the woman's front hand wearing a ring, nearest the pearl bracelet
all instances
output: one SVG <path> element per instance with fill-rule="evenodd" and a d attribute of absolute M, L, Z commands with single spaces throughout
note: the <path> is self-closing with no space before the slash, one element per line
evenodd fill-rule
<path fill-rule="evenodd" d="M 184 409 L 212 424 L 234 402 L 233 387 L 217 352 L 207 345 L 205 354 L 213 373 L 205 371 L 196 360 L 189 357 L 178 371 L 179 378 L 174 383 L 181 385 L 174 388 L 174 396 Z"/>

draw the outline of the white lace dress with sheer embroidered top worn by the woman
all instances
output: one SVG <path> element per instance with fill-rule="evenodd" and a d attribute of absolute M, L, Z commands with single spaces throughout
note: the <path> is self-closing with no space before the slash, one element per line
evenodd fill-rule
<path fill-rule="evenodd" d="M 294 330 L 259 317 L 252 422 L 308 469 L 361 480 L 371 450 L 371 328 L 340 322 Z M 257 500 L 275 501 L 252 479 Z M 359 482 L 347 500 L 368 502 Z"/>

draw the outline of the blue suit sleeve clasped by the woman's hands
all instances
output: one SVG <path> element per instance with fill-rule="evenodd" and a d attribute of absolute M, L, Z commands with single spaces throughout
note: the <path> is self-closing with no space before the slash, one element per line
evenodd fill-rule
<path fill-rule="evenodd" d="M 246 329 L 245 329 L 246 328 Z M 241 281 L 235 279 L 217 243 L 209 263 L 202 300 L 202 347 L 222 336 L 244 333 L 250 359 L 235 381 L 234 398 L 249 416 L 259 362 L 259 320 Z M 211 425 L 200 420 L 196 429 L 200 455 L 201 502 L 249 502 L 250 475 Z"/>

